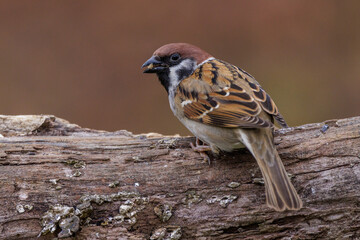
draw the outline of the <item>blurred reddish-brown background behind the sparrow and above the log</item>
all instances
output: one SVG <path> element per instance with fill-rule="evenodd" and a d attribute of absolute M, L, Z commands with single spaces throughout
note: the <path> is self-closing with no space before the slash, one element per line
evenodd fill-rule
<path fill-rule="evenodd" d="M 359 115 L 360 1 L 1 1 L 0 114 L 188 134 L 140 66 L 189 42 L 262 84 L 290 125 Z"/>

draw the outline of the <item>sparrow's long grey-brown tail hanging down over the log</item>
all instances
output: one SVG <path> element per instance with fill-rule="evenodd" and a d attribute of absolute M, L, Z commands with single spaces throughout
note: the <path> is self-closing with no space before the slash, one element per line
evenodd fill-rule
<path fill-rule="evenodd" d="M 240 129 L 239 137 L 255 157 L 265 183 L 266 203 L 276 211 L 298 210 L 302 201 L 287 176 L 270 128 Z"/>

